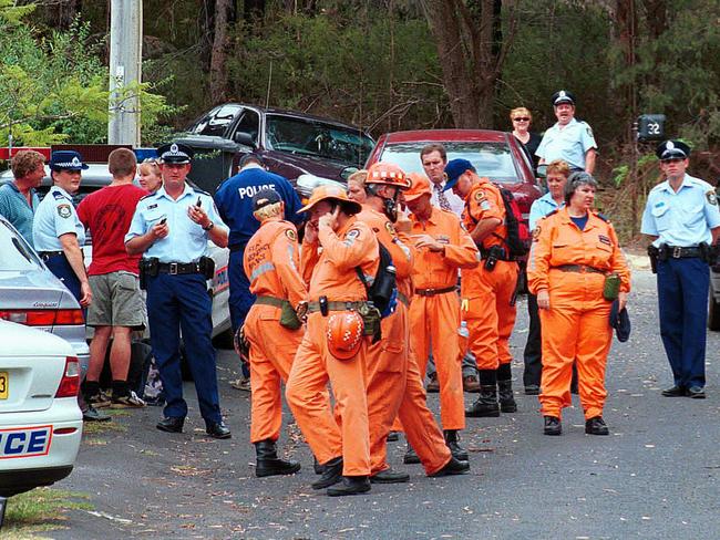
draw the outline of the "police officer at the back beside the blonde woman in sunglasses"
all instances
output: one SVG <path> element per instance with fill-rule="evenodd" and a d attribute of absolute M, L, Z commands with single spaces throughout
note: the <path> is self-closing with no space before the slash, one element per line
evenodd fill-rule
<path fill-rule="evenodd" d="M 553 94 L 551 98 L 557 122 L 543 135 L 535 155 L 539 165 L 555 159 L 564 159 L 570 170 L 585 170 L 593 174 L 597 143 L 593 129 L 586 122 L 575 120 L 575 95 L 566 90 Z"/>

